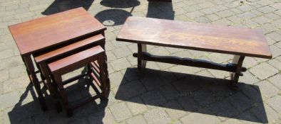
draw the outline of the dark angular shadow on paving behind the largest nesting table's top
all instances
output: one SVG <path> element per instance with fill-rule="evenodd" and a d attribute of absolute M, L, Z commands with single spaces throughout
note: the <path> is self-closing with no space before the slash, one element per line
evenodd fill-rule
<path fill-rule="evenodd" d="M 42 12 L 42 14 L 51 15 L 53 13 L 59 13 L 61 11 L 76 9 L 79 7 L 83 7 L 88 10 L 93 4 L 93 1 L 94 0 L 55 0 L 45 11 Z"/>

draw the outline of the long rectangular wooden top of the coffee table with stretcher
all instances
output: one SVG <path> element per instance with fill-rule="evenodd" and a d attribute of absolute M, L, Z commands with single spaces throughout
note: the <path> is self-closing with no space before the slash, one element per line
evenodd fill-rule
<path fill-rule="evenodd" d="M 232 55 L 271 58 L 262 30 L 128 17 L 116 40 Z"/>

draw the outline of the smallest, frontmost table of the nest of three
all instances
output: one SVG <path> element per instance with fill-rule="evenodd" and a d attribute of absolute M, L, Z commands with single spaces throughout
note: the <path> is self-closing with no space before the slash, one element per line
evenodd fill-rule
<path fill-rule="evenodd" d="M 56 87 L 59 89 L 59 94 L 61 95 L 62 101 L 63 101 L 63 106 L 66 108 L 66 113 L 69 116 L 71 116 L 72 109 L 77 108 L 78 106 L 83 105 L 84 103 L 88 103 L 89 101 L 92 101 L 96 98 L 108 98 L 109 91 L 107 89 L 107 84 L 106 84 L 106 71 L 105 71 L 105 51 L 101 46 L 95 46 L 91 47 L 87 50 L 82 50 L 81 52 L 76 52 L 73 55 L 69 55 L 67 57 L 63 57 L 59 60 L 56 60 L 54 62 L 51 62 L 48 64 L 48 68 L 51 71 L 51 77 L 53 81 L 56 84 Z M 99 65 L 99 70 L 100 73 L 98 74 L 98 77 L 96 77 L 93 73 L 92 67 L 91 67 L 91 62 L 98 61 Z M 81 74 L 76 77 L 73 77 L 71 79 L 68 79 L 66 81 L 62 81 L 61 76 L 63 74 L 66 74 L 68 72 L 72 72 L 73 70 L 76 70 L 78 68 L 87 66 L 87 72 L 86 74 Z M 63 85 L 74 81 L 76 79 L 79 79 L 81 77 L 85 77 L 88 75 L 91 79 L 98 78 L 100 79 L 101 82 L 99 84 L 101 85 L 101 91 L 100 93 L 98 89 L 92 84 L 93 89 L 96 91 L 97 95 L 89 98 L 86 101 L 82 101 L 74 106 L 70 106 L 68 103 L 68 97 L 66 94 L 66 91 L 63 87 Z M 95 80 L 96 81 L 96 80 Z"/>

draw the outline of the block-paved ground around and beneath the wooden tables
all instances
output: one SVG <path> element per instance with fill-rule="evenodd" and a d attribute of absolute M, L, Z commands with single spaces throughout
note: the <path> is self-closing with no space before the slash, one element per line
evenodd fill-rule
<path fill-rule="evenodd" d="M 25 67 L 7 26 L 83 6 L 106 30 L 111 94 L 91 102 L 72 118 L 34 101 Z M 128 16 L 165 18 L 223 26 L 262 28 L 272 60 L 246 57 L 240 89 L 228 87 L 228 72 L 148 62 L 136 72 L 136 44 L 116 42 Z M 0 0 L 0 123 L 281 123 L 280 0 Z M 230 62 L 231 55 L 148 46 L 155 55 Z M 72 72 L 70 75 L 79 72 Z M 81 80 L 80 80 L 81 81 Z M 73 101 L 86 90 L 68 86 Z M 83 86 L 82 86 L 83 87 Z"/>

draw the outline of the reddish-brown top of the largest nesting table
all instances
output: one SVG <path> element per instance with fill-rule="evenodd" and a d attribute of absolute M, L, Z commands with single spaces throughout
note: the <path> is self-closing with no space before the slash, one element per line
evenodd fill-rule
<path fill-rule="evenodd" d="M 106 27 L 81 7 L 18 23 L 9 26 L 9 30 L 24 55 L 106 30 Z"/>

